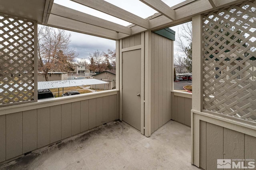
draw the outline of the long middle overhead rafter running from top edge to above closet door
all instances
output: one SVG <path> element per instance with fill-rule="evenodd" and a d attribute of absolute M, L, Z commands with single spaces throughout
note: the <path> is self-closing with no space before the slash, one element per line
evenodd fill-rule
<path fill-rule="evenodd" d="M 139 16 L 136 16 L 126 10 L 123 10 L 122 8 L 114 6 L 113 4 L 110 4 L 104 0 L 72 0 L 72 1 L 77 2 L 78 4 L 82 4 L 84 6 L 87 6 L 89 8 L 93 8 L 94 10 L 104 12 L 108 15 L 114 16 L 121 20 L 134 23 L 136 25 L 139 25 L 140 27 L 149 29 L 149 21 L 144 20 L 143 18 L 140 18 Z"/>

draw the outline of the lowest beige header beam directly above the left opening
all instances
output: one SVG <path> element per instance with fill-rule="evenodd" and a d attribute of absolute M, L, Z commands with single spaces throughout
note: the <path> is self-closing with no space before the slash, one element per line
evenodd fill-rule
<path fill-rule="evenodd" d="M 112 40 L 118 39 L 118 33 L 116 31 L 112 31 L 110 29 L 98 27 L 88 23 L 83 23 L 80 21 L 71 20 L 69 18 L 64 18 L 61 16 L 56 16 L 54 14 L 50 14 L 47 25 L 51 27 L 60 28 L 60 29 L 66 29 L 68 31 L 85 33 L 88 35 L 94 35 L 97 37 L 102 37 L 102 38 L 107 38 Z M 119 33 L 119 35 L 122 36 L 125 34 Z"/>

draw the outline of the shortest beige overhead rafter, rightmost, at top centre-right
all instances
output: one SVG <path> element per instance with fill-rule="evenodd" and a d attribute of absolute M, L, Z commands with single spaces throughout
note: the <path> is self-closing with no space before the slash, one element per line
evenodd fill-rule
<path fill-rule="evenodd" d="M 162 2 L 162 0 L 140 0 L 140 1 L 146 4 L 147 6 L 150 6 L 154 10 L 160 12 L 170 20 L 173 20 L 173 21 L 176 20 L 175 11 L 172 8 L 170 8 L 167 4 Z"/>

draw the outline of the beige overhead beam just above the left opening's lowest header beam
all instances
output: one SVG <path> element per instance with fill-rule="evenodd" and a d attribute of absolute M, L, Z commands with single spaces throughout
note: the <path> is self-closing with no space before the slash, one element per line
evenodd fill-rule
<path fill-rule="evenodd" d="M 101 18 L 91 16 L 89 14 L 85 14 L 83 12 L 73 10 L 59 4 L 53 4 L 51 14 L 131 35 L 131 28 L 119 25 L 114 22 L 103 20 Z"/>

